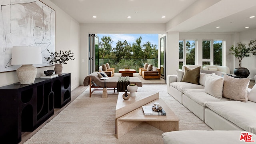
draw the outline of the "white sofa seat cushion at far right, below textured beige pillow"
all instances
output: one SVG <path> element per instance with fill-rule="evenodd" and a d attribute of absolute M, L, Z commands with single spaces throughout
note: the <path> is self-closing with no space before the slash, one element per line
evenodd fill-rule
<path fill-rule="evenodd" d="M 240 128 L 256 134 L 256 103 L 230 100 L 228 102 L 209 102 L 206 106 Z"/>

